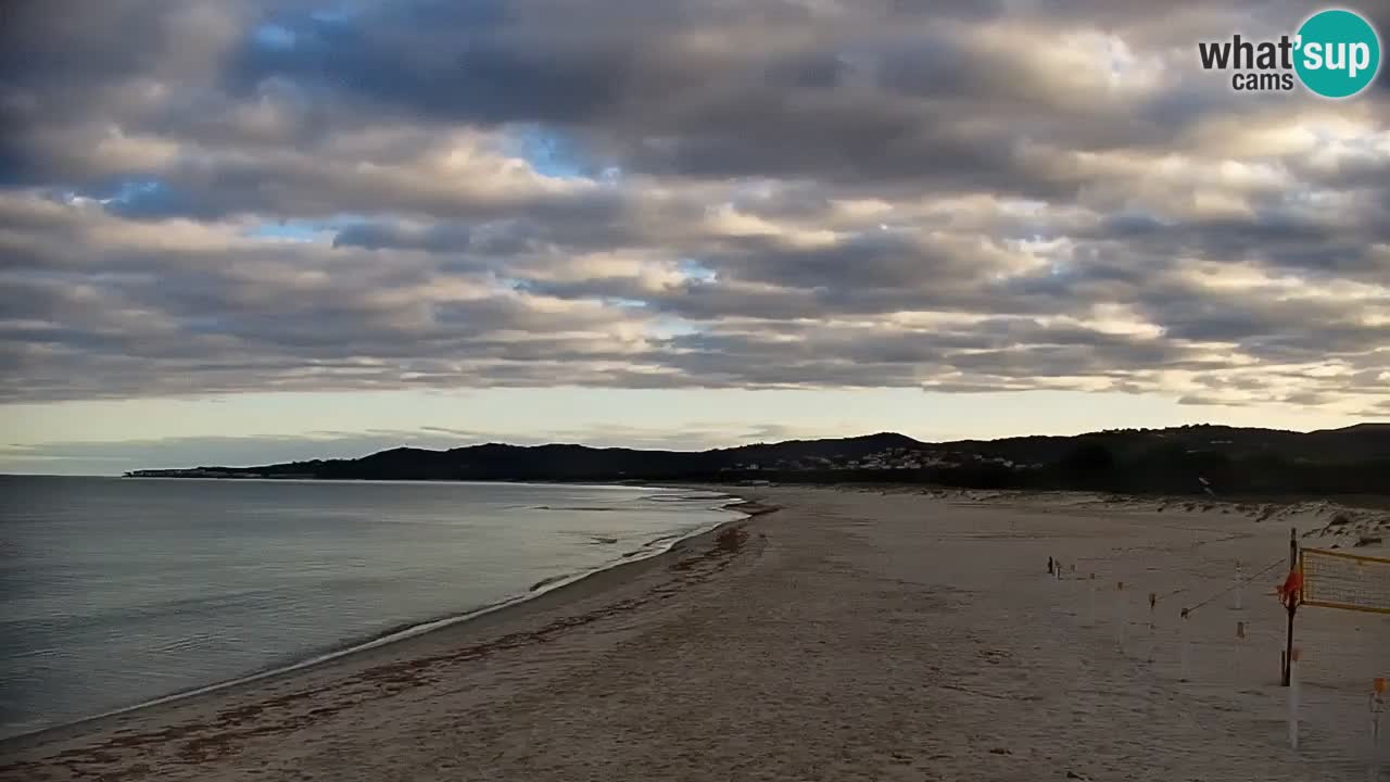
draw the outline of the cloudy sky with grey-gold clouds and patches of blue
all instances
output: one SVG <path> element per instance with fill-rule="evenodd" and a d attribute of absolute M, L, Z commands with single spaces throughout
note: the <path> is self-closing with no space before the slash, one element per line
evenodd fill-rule
<path fill-rule="evenodd" d="M 1390 419 L 1319 7 L 7 4 L 0 472 Z"/>

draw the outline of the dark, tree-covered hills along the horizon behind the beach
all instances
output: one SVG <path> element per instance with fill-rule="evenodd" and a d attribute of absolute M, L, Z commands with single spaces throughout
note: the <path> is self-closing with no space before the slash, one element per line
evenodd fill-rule
<path fill-rule="evenodd" d="M 1308 433 L 1201 424 L 955 442 L 922 442 L 903 434 L 878 433 L 712 451 L 489 442 L 448 451 L 393 448 L 359 459 L 129 474 L 327 480 L 763 479 L 1165 494 L 1201 494 L 1205 487 L 1223 494 L 1390 494 L 1390 424 Z"/>

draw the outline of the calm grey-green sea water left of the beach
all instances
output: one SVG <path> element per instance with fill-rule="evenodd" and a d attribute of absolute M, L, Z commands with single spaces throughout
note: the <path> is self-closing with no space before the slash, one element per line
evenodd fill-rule
<path fill-rule="evenodd" d="M 0 736 L 292 665 L 663 550 L 635 487 L 0 476 Z"/>

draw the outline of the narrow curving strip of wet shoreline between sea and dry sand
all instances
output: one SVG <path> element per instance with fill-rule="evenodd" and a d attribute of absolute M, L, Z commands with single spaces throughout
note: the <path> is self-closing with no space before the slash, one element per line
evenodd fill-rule
<path fill-rule="evenodd" d="M 649 486 L 648 488 L 674 487 Z M 710 491 L 713 493 L 713 490 Z M 660 561 L 677 558 L 688 550 L 698 547 L 702 541 L 708 538 L 712 540 L 714 534 L 728 525 L 746 522 L 760 513 L 776 509 L 758 502 L 751 502 L 749 500 L 730 491 L 720 491 L 720 494 L 723 494 L 723 497 L 712 497 L 710 500 L 721 504 L 710 506 L 709 511 L 714 513 L 735 513 L 734 516 L 714 520 L 710 525 L 703 525 L 687 534 L 671 536 L 666 540 L 664 547 L 648 548 L 649 544 L 644 544 L 642 548 L 637 548 L 614 562 L 609 562 L 589 570 L 555 576 L 553 579 L 532 584 L 523 593 L 503 597 L 489 605 L 461 614 L 398 625 L 373 637 L 349 641 L 346 646 L 314 654 L 297 662 L 278 665 L 265 671 L 236 676 L 234 679 L 160 696 L 153 700 L 95 714 L 92 717 L 83 717 L 71 722 L 50 725 L 47 728 L 17 733 L 13 736 L 4 736 L 0 737 L 0 760 L 3 760 L 4 754 L 11 751 L 32 749 L 35 746 L 58 740 L 68 740 L 88 733 L 96 733 L 111 724 L 118 724 L 124 719 L 133 719 L 136 717 L 154 712 L 156 710 L 172 710 L 193 704 L 206 697 L 231 696 L 236 692 L 243 692 L 259 685 L 268 685 L 279 679 L 293 679 L 296 675 L 303 676 L 310 672 L 331 669 L 339 665 L 364 662 L 370 660 L 373 653 L 385 654 L 386 651 L 399 651 L 400 647 L 409 646 L 410 641 L 421 640 L 435 633 L 443 633 L 448 630 L 463 633 L 470 628 L 481 629 L 488 623 L 488 619 L 500 622 L 505 619 L 518 618 L 525 615 L 528 608 L 541 609 L 549 608 L 552 604 L 560 605 L 567 600 L 566 596 L 573 597 L 574 594 L 588 594 L 592 591 L 602 591 L 603 589 L 617 587 L 627 580 L 623 577 L 624 573 L 628 577 L 635 577 Z M 605 582 L 605 586 L 595 590 L 592 589 L 595 584 L 589 583 L 591 580 L 602 580 Z M 584 589 L 585 586 L 591 589 L 587 590 Z M 542 601 L 546 603 L 542 604 Z"/>

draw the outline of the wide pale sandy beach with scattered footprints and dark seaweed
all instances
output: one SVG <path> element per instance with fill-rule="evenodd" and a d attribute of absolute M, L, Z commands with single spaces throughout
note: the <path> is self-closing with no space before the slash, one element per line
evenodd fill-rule
<path fill-rule="evenodd" d="M 1291 526 L 1308 545 L 1390 557 L 1364 543 L 1383 532 L 1375 513 L 758 500 L 780 509 L 464 625 L 10 742 L 0 779 L 1369 778 L 1390 615 L 1300 611 L 1294 751 L 1272 591 Z"/>

